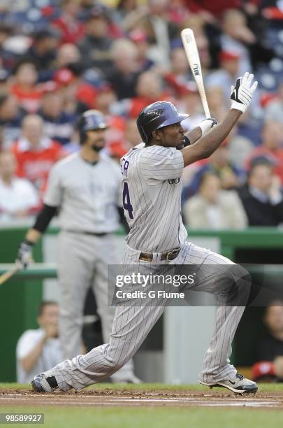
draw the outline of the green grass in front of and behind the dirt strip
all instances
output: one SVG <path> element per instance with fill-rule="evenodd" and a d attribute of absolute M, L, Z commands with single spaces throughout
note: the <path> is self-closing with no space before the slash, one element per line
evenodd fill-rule
<path fill-rule="evenodd" d="M 1 388 L 29 389 L 30 385 L 1 383 Z M 119 385 L 101 383 L 97 390 L 204 390 L 201 385 Z M 283 384 L 261 384 L 262 392 L 283 391 Z M 223 391 L 223 390 L 222 390 Z M 283 411 L 272 408 L 174 408 L 163 407 L 92 407 L 92 406 L 1 406 L 6 413 L 44 413 L 43 428 L 279 428 L 283 426 Z M 26 427 L 34 425 L 25 424 Z M 36 425 L 40 427 L 41 425 Z"/>

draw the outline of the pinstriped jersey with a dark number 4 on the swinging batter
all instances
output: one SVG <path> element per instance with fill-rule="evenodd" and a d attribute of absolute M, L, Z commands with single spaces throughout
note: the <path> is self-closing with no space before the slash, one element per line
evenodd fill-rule
<path fill-rule="evenodd" d="M 180 150 L 160 145 L 131 148 L 121 159 L 123 207 L 131 228 L 129 247 L 164 252 L 184 244 L 187 231 L 181 217 Z"/>

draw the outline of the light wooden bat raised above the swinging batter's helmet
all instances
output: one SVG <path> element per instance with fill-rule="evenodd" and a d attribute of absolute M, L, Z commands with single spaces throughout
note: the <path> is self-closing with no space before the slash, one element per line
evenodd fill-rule
<path fill-rule="evenodd" d="M 205 95 L 205 89 L 203 85 L 203 75 L 201 73 L 201 60 L 198 55 L 198 47 L 196 45 L 196 39 L 194 38 L 194 31 L 190 28 L 185 28 L 181 31 L 182 43 L 184 45 L 184 52 L 186 52 L 189 66 L 191 68 L 191 73 L 193 73 L 196 86 L 198 87 L 198 92 L 201 97 L 201 102 L 203 104 L 203 110 L 205 112 L 205 117 L 210 116 L 210 109 L 208 107 L 208 101 Z"/>

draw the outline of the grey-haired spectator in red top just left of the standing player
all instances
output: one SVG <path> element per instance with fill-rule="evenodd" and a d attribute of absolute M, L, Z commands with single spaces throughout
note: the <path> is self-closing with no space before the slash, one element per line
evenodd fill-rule
<path fill-rule="evenodd" d="M 17 176 L 30 180 L 43 191 L 50 168 L 64 156 L 59 143 L 43 134 L 43 120 L 27 115 L 22 121 L 22 134 L 11 150 L 17 159 Z"/>

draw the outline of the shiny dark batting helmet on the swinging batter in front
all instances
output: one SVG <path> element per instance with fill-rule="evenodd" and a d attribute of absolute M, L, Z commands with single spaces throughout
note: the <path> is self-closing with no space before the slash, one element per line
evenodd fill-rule
<path fill-rule="evenodd" d="M 179 113 L 169 101 L 157 101 L 140 112 L 136 123 L 142 140 L 148 143 L 153 131 L 179 123 L 187 117 L 189 115 Z"/>

